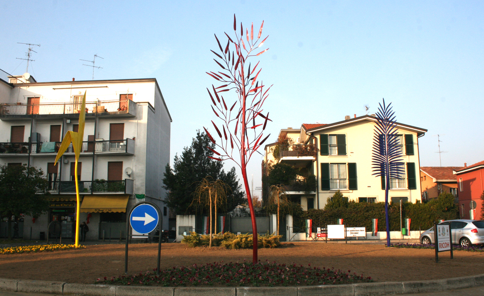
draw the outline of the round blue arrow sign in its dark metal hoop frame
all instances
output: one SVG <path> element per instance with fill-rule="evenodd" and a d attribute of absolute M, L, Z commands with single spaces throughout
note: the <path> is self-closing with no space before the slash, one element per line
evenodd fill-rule
<path fill-rule="evenodd" d="M 128 241 L 129 241 L 129 228 L 140 234 L 147 234 L 156 229 L 159 226 L 161 235 L 161 212 L 157 205 L 154 203 L 145 201 L 137 204 L 130 212 L 126 223 L 126 247 L 124 250 L 124 273 L 128 273 Z M 131 227 L 129 227 L 131 226 Z M 158 263 L 157 263 L 157 275 L 160 275 L 160 257 L 161 257 L 161 239 L 158 240 Z"/>

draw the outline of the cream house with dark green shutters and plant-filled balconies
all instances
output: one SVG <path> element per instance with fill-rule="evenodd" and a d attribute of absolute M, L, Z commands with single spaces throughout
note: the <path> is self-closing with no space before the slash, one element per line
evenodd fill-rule
<path fill-rule="evenodd" d="M 323 209 L 326 200 L 337 190 L 349 200 L 384 202 L 383 178 L 372 176 L 375 125 L 376 117 L 364 115 L 346 116 L 345 120 L 331 124 L 303 124 L 300 129 L 282 129 L 280 136 L 291 138 L 294 145 L 279 149 L 279 155 L 273 153 L 277 143 L 266 145 L 263 173 L 267 174 L 271 165 L 282 162 L 299 168 L 303 175 L 313 174 L 317 180 L 314 191 L 298 191 L 291 185 L 286 188 L 291 199 L 300 202 L 304 210 Z M 415 203 L 421 201 L 418 139 L 427 130 L 403 123 L 397 123 L 397 127 L 405 173 L 401 179 L 391 180 L 389 201 L 402 199 Z"/>

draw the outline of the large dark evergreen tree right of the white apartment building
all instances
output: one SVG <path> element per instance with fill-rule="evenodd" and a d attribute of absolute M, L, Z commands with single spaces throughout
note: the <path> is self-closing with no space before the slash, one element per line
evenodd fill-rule
<path fill-rule="evenodd" d="M 166 165 L 163 188 L 168 191 L 168 194 L 164 202 L 178 215 L 196 213 L 196 207 L 191 206 L 194 192 L 198 183 L 208 176 L 213 180 L 223 181 L 231 188 L 227 193 L 227 204 L 218 207 L 219 210 L 231 211 L 242 202 L 243 192 L 241 192 L 235 168 L 232 167 L 226 173 L 222 168 L 222 162 L 209 158 L 214 154 L 210 148 L 214 149 L 215 145 L 205 133 L 198 130 L 192 145 L 183 148 L 181 156 L 175 155 L 173 168 L 169 164 Z"/>

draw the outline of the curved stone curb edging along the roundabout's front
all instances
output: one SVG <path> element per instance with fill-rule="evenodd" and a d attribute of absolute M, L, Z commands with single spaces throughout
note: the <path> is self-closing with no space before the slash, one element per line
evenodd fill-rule
<path fill-rule="evenodd" d="M 36 280 L 0 279 L 0 291 L 77 296 L 377 296 L 441 292 L 484 286 L 484 274 L 427 281 L 383 282 L 304 287 L 148 287 L 88 285 Z"/>

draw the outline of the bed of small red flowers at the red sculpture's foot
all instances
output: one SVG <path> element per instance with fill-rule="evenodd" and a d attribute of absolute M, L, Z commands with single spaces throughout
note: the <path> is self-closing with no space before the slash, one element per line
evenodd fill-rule
<path fill-rule="evenodd" d="M 295 263 L 277 264 L 248 263 L 248 262 L 213 262 L 191 267 L 173 267 L 161 270 L 160 275 L 154 272 L 139 273 L 138 275 L 120 276 L 103 280 L 97 279 L 98 284 L 119 285 L 151 285 L 164 287 L 177 286 L 311 286 L 335 285 L 350 283 L 372 282 L 370 277 L 357 275 L 334 268 L 320 268 L 296 265 Z"/>

